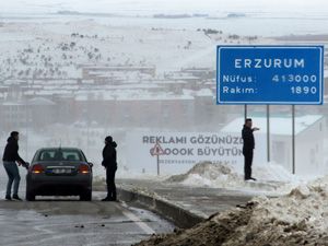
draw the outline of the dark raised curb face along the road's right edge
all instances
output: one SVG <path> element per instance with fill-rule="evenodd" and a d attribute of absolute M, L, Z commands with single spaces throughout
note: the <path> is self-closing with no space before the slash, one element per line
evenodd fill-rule
<path fill-rule="evenodd" d="M 180 229 L 189 229 L 206 220 L 206 216 L 199 215 L 186 209 L 183 209 L 169 201 L 155 198 L 145 194 L 118 187 L 119 199 L 126 202 L 137 202 L 142 207 L 162 215 L 168 221 L 172 221 Z"/>

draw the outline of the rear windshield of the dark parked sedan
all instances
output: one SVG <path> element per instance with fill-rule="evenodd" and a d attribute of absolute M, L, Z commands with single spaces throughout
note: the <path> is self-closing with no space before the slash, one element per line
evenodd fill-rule
<path fill-rule="evenodd" d="M 39 151 L 36 161 L 80 161 L 85 162 L 81 151 L 69 149 L 47 149 Z"/>

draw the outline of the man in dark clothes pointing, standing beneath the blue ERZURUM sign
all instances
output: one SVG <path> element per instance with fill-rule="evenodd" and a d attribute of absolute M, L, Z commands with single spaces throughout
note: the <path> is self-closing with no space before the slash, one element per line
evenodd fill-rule
<path fill-rule="evenodd" d="M 251 177 L 251 163 L 253 163 L 253 152 L 255 149 L 254 131 L 259 130 L 259 128 L 251 128 L 253 122 L 250 118 L 245 120 L 244 128 L 242 130 L 242 138 L 244 141 L 243 155 L 244 155 L 244 172 L 245 180 L 256 180 Z"/>

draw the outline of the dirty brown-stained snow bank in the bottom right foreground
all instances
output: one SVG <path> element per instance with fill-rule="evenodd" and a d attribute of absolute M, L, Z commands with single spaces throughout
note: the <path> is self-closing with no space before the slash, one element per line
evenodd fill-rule
<path fill-rule="evenodd" d="M 258 197 L 186 231 L 138 245 L 298 246 L 328 245 L 328 176 L 278 198 Z"/>

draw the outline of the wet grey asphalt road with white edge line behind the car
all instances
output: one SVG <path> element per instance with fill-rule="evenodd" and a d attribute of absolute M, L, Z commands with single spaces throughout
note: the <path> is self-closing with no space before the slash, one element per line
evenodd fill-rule
<path fill-rule="evenodd" d="M 153 213 L 120 202 L 0 200 L 3 246 L 131 245 L 172 230 Z"/>

